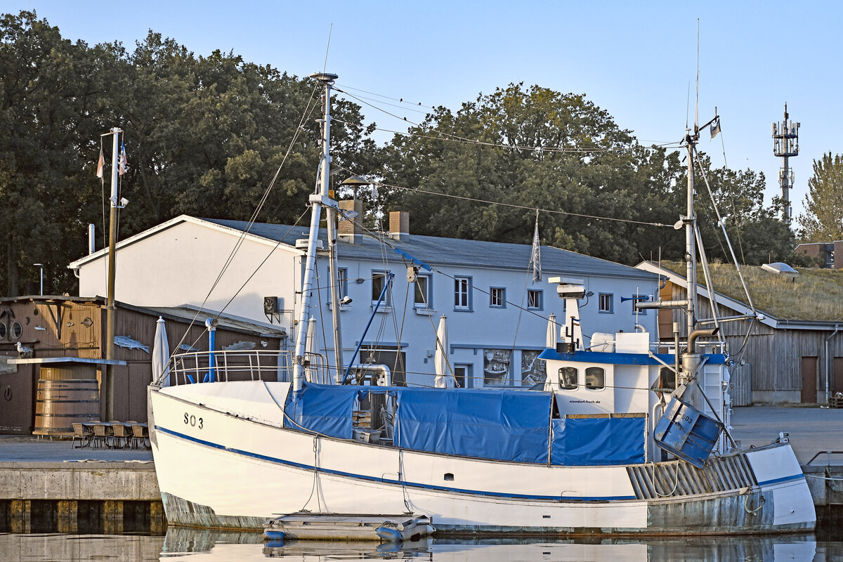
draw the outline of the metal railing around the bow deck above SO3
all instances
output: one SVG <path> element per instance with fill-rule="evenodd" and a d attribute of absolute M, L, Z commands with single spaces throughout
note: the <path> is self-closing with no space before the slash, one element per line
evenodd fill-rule
<path fill-rule="evenodd" d="M 292 380 L 292 351 L 191 351 L 177 354 L 169 362 L 170 386 L 231 381 L 289 382 Z M 331 383 L 325 356 L 319 353 L 305 353 L 304 380 L 309 383 Z"/>

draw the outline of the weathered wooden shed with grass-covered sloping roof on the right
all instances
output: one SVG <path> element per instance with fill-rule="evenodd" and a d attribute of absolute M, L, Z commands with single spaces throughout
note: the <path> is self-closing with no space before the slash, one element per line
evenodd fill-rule
<path fill-rule="evenodd" d="M 666 277 L 659 293 L 662 300 L 685 298 L 685 276 L 652 262 L 637 267 Z M 797 282 L 771 281 L 769 276 L 775 274 L 759 272 L 758 267 L 743 269 L 744 274 L 752 273 L 746 276 L 746 282 L 750 296 L 757 301 L 754 319 L 740 318 L 753 313 L 745 297 L 721 292 L 710 295 L 706 286 L 698 286 L 697 318 L 712 318 L 713 301 L 717 318 L 725 319 L 720 322 L 720 332 L 733 361 L 729 370 L 733 404 L 826 404 L 836 393 L 843 393 L 843 314 L 836 304 L 843 302 L 843 272 L 823 270 L 824 297 L 812 299 L 798 294 L 800 284 L 809 282 L 811 270 L 803 270 L 804 279 Z M 840 280 L 835 279 L 834 284 L 827 282 L 828 276 L 838 275 Z M 799 300 L 798 310 L 778 306 L 776 298 L 781 301 L 781 297 L 776 291 L 781 287 Z M 685 311 L 659 311 L 659 340 L 673 340 L 674 322 L 679 323 L 680 337 L 684 338 Z"/>

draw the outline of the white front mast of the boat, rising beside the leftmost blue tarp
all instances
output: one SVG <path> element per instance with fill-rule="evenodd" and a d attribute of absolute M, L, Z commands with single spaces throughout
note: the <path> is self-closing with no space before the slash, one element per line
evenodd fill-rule
<path fill-rule="evenodd" d="M 322 124 L 322 162 L 319 166 L 319 183 L 316 193 L 310 195 L 310 233 L 308 237 L 308 252 L 305 258 L 304 279 L 302 281 L 302 306 L 298 311 L 298 328 L 296 329 L 296 346 L 293 352 L 293 390 L 302 389 L 304 377 L 304 351 L 307 345 L 307 320 L 310 315 L 310 297 L 313 291 L 314 265 L 316 263 L 316 241 L 319 238 L 319 221 L 322 216 L 322 206 L 331 207 L 336 203 L 328 197 L 328 179 L 330 177 L 330 87 L 336 74 L 329 72 L 315 72 L 310 78 L 325 84 L 325 116 Z M 339 302 L 335 303 L 335 308 Z M 337 317 L 338 318 L 338 317 Z"/>

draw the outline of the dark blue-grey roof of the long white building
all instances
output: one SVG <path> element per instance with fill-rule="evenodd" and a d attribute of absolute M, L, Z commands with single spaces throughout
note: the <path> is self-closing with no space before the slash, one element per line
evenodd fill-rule
<path fill-rule="evenodd" d="M 223 227 L 244 231 L 248 226 L 245 221 L 203 218 Z M 255 223 L 250 229 L 255 236 L 294 246 L 299 238 L 308 237 L 308 227 L 290 227 L 282 224 Z M 319 238 L 327 248 L 328 236 L 325 228 L 319 228 Z M 411 234 L 406 241 L 384 237 L 389 246 L 394 246 L 416 260 L 427 265 L 479 267 L 495 270 L 524 271 L 529 265 L 532 246 L 530 244 L 504 244 L 482 240 L 462 240 L 459 238 L 438 238 Z M 383 260 L 384 252 L 398 258 L 391 249 L 370 235 L 363 235 L 360 244 L 337 242 L 337 254 L 341 257 L 357 260 Z M 552 246 L 541 247 L 541 269 L 547 275 L 575 274 L 636 279 L 655 279 L 650 272 L 637 270 L 628 265 L 620 265 L 608 260 L 600 260 L 588 255 L 577 254 Z"/>

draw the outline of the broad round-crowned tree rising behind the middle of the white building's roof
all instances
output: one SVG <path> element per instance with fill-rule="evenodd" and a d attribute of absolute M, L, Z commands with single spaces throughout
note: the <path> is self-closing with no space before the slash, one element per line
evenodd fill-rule
<path fill-rule="evenodd" d="M 522 84 L 438 108 L 384 162 L 388 206 L 412 209 L 420 233 L 529 244 L 540 208 L 544 244 L 622 263 L 657 230 L 625 221 L 663 222 L 682 171 L 584 95 Z"/>

